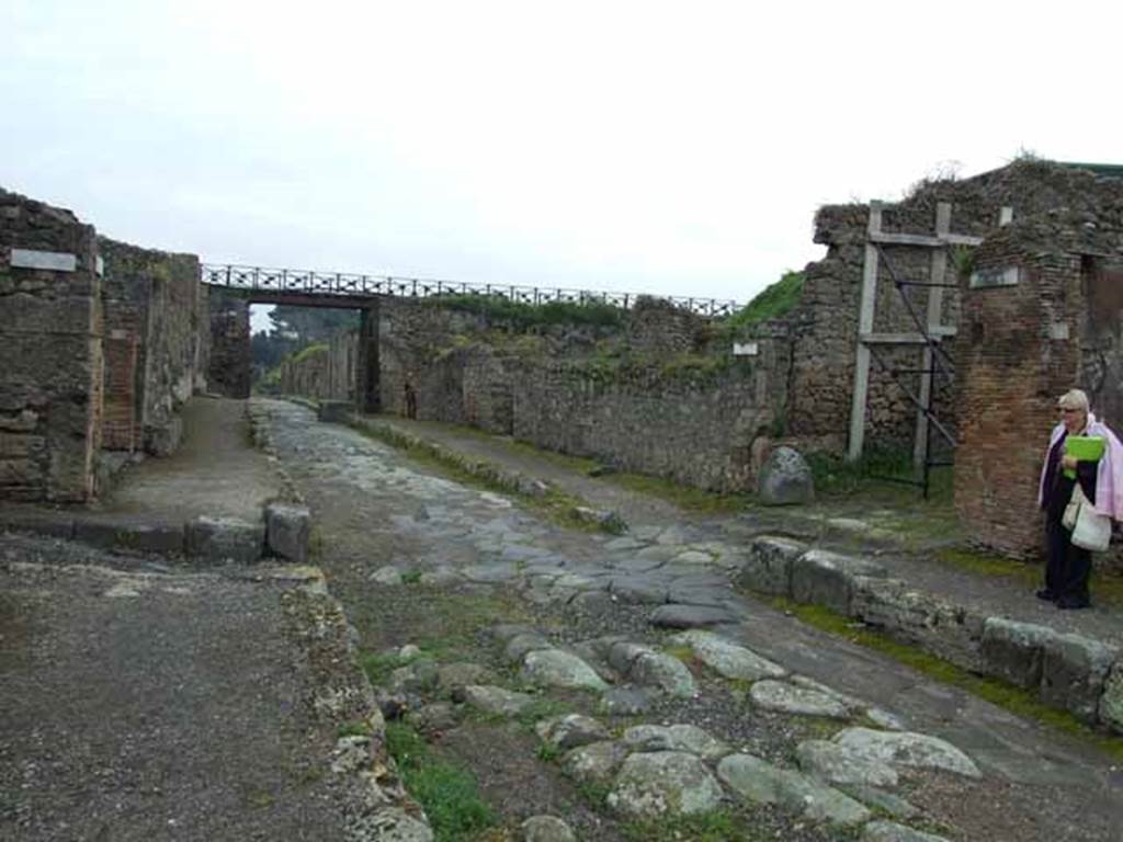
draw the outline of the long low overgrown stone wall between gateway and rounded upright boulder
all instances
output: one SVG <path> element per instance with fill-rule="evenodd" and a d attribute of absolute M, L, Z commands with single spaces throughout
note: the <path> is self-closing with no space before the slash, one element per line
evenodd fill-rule
<path fill-rule="evenodd" d="M 618 327 L 522 330 L 418 301 L 380 306 L 382 404 L 393 414 L 405 414 L 409 382 L 422 420 L 719 491 L 751 485 L 782 422 L 783 331 L 764 331 L 756 357 L 733 358 L 705 348 L 704 320 L 663 302 L 645 302 Z M 328 396 L 319 384 L 343 353 L 332 344 L 287 364 L 283 390 Z"/>

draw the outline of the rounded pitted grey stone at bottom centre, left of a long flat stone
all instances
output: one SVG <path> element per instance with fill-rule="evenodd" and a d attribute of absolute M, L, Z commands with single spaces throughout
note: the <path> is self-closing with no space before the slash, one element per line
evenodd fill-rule
<path fill-rule="evenodd" d="M 721 804 L 721 785 L 699 758 L 682 751 L 631 754 L 609 793 L 609 806 L 633 816 L 706 813 Z"/>

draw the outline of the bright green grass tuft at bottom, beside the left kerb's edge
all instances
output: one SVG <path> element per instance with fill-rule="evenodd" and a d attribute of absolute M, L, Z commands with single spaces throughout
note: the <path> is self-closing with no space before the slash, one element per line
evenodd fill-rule
<path fill-rule="evenodd" d="M 438 842 L 455 842 L 496 824 L 495 811 L 481 798 L 475 778 L 437 756 L 413 729 L 386 723 L 386 750 L 405 788 L 424 808 Z"/>

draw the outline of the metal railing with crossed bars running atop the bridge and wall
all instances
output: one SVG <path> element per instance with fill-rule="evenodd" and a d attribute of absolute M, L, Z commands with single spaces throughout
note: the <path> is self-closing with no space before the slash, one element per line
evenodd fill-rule
<path fill-rule="evenodd" d="M 307 295 L 340 295 L 350 298 L 393 295 L 429 299 L 441 295 L 491 295 L 520 304 L 608 304 L 628 310 L 641 298 L 668 301 L 699 315 L 718 318 L 732 315 L 739 309 L 736 301 L 699 299 L 679 295 L 643 295 L 629 292 L 591 292 L 562 287 L 519 286 L 515 284 L 480 284 L 464 281 L 432 281 L 390 275 L 358 275 L 349 272 L 316 272 L 312 269 L 273 269 L 259 266 L 202 264 L 202 281 L 232 290 Z"/>

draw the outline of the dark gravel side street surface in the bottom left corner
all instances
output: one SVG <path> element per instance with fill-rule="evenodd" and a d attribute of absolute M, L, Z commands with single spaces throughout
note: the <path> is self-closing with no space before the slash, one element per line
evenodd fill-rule
<path fill-rule="evenodd" d="M 341 839 L 369 697 L 305 576 L 0 536 L 0 839 Z"/>

